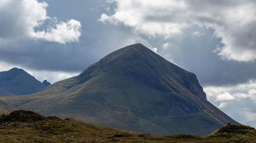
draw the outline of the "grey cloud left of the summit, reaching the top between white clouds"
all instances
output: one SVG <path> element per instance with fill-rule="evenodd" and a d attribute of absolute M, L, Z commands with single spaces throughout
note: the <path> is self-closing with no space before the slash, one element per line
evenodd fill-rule
<path fill-rule="evenodd" d="M 61 5 L 59 1 L 47 3 L 49 16 L 57 15 L 60 20 L 74 17 L 81 21 L 80 42 L 63 45 L 42 40 L 13 40 L 0 45 L 1 61 L 37 71 L 82 72 L 106 54 L 137 40 L 137 36 L 124 26 L 104 25 L 97 21 L 108 7 L 101 6 L 105 1 L 61 1 Z M 56 10 L 56 7 L 61 8 Z"/>

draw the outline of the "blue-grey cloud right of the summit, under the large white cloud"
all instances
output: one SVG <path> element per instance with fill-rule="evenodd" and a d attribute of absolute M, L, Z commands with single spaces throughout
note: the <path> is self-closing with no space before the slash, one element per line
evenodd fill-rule
<path fill-rule="evenodd" d="M 202 31 L 203 29 L 192 30 Z M 191 30 L 188 30 L 191 31 Z M 202 85 L 226 85 L 248 82 L 256 79 L 256 63 L 223 61 L 213 51 L 221 45 L 221 39 L 212 38 L 213 30 L 203 30 L 202 36 L 185 33 L 182 37 L 169 39 L 174 47 L 162 49 L 159 53 L 172 53 L 174 61 L 184 69 L 196 73 Z M 176 46 L 176 48 L 175 48 Z"/>

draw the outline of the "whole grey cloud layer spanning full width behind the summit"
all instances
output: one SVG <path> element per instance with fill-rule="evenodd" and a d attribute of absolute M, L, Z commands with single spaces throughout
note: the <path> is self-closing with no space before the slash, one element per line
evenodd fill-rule
<path fill-rule="evenodd" d="M 49 4 L 47 13 L 50 17 L 57 16 L 60 20 L 75 18 L 81 21 L 80 42 L 62 45 L 34 40 L 11 41 L 0 46 L 1 61 L 34 70 L 81 72 L 118 48 L 134 42 L 145 44 L 144 41 L 148 41 L 148 45 L 158 48 L 160 55 L 169 56 L 169 59 L 179 66 L 196 73 L 202 85 L 238 84 L 256 78 L 253 62 L 223 61 L 212 52 L 217 45 L 220 47 L 224 45 L 220 38 L 212 37 L 215 31 L 210 28 L 193 25 L 186 28 L 183 34 L 174 37 L 148 38 L 133 32 L 130 27 L 102 24 L 97 21 L 101 13 L 107 12 L 106 8 L 114 8 L 113 4 L 105 1 L 61 1 L 61 4 L 59 1 L 46 1 L 46 3 Z M 190 32 L 196 31 L 204 35 L 191 36 Z M 176 48 L 163 49 L 162 45 L 166 42 Z"/>

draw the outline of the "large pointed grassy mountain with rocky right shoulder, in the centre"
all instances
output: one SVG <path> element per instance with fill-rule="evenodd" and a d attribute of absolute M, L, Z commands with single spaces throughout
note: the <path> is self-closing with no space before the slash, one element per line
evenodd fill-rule
<path fill-rule="evenodd" d="M 227 122 L 239 124 L 207 101 L 194 73 L 142 44 L 116 50 L 41 92 L 1 98 L 45 116 L 152 134 L 205 136 Z"/>

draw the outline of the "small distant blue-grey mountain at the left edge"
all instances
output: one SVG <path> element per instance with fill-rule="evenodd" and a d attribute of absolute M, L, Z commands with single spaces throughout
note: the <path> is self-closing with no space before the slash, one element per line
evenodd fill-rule
<path fill-rule="evenodd" d="M 26 95 L 46 88 L 23 69 L 13 68 L 0 72 L 0 95 Z"/>

